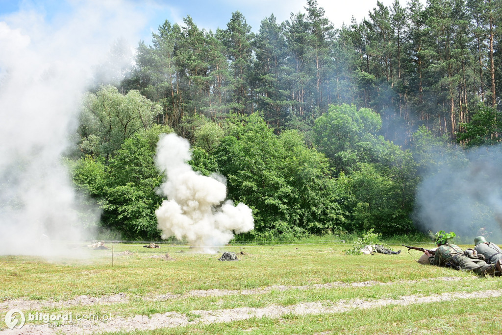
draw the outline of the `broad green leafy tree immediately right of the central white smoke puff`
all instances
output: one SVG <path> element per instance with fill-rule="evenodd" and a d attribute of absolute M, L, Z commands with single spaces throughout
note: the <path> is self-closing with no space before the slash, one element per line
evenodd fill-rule
<path fill-rule="evenodd" d="M 300 133 L 279 137 L 257 114 L 230 129 L 233 135 L 216 150 L 217 162 L 229 197 L 253 208 L 254 234 L 299 236 L 344 222 L 327 159 L 307 148 Z"/>

